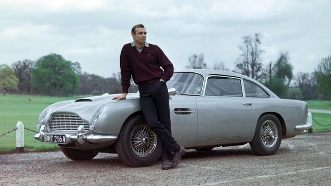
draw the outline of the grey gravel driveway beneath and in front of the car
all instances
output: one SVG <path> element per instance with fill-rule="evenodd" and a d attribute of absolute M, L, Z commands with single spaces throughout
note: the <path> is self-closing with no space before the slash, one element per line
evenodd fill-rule
<path fill-rule="evenodd" d="M 331 133 L 285 139 L 273 156 L 249 144 L 188 150 L 179 168 L 131 168 L 117 154 L 73 162 L 61 151 L 0 155 L 0 185 L 330 185 Z"/>

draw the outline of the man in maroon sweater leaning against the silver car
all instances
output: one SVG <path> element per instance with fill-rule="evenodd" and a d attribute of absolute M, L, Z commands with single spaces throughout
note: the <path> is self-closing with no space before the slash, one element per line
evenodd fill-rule
<path fill-rule="evenodd" d="M 120 56 L 123 93 L 113 99 L 126 98 L 132 76 L 134 83 L 139 86 L 140 106 L 147 125 L 161 139 L 162 169 L 176 168 L 185 154 L 185 148 L 171 136 L 166 82 L 174 73 L 173 64 L 158 46 L 146 42 L 147 32 L 144 25 L 133 26 L 131 35 L 133 42 L 123 46 Z M 171 152 L 174 152 L 172 160 Z"/>

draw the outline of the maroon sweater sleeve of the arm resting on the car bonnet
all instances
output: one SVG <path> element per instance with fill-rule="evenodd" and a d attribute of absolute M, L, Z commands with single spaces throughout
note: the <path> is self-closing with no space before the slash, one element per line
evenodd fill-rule
<path fill-rule="evenodd" d="M 125 53 L 125 45 L 122 48 L 120 56 L 121 79 L 122 79 L 122 92 L 127 93 L 130 87 L 131 70 L 127 54 Z"/>

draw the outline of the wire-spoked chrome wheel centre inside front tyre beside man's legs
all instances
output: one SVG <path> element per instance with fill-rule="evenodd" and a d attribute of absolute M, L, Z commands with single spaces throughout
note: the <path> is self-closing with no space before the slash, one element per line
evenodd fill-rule
<path fill-rule="evenodd" d="M 157 136 L 147 125 L 135 127 L 130 140 L 132 151 L 142 158 L 153 153 L 157 145 Z"/>

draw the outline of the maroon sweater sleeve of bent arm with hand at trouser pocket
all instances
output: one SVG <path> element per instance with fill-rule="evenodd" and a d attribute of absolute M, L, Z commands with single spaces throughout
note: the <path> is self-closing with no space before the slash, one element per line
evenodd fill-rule
<path fill-rule="evenodd" d="M 170 78 L 174 74 L 174 66 L 171 63 L 171 61 L 168 59 L 166 54 L 164 54 L 163 51 L 159 47 L 157 47 L 157 48 L 158 48 L 157 58 L 159 61 L 159 65 L 164 70 L 161 79 L 163 79 L 164 81 L 167 82 L 170 80 Z"/>

